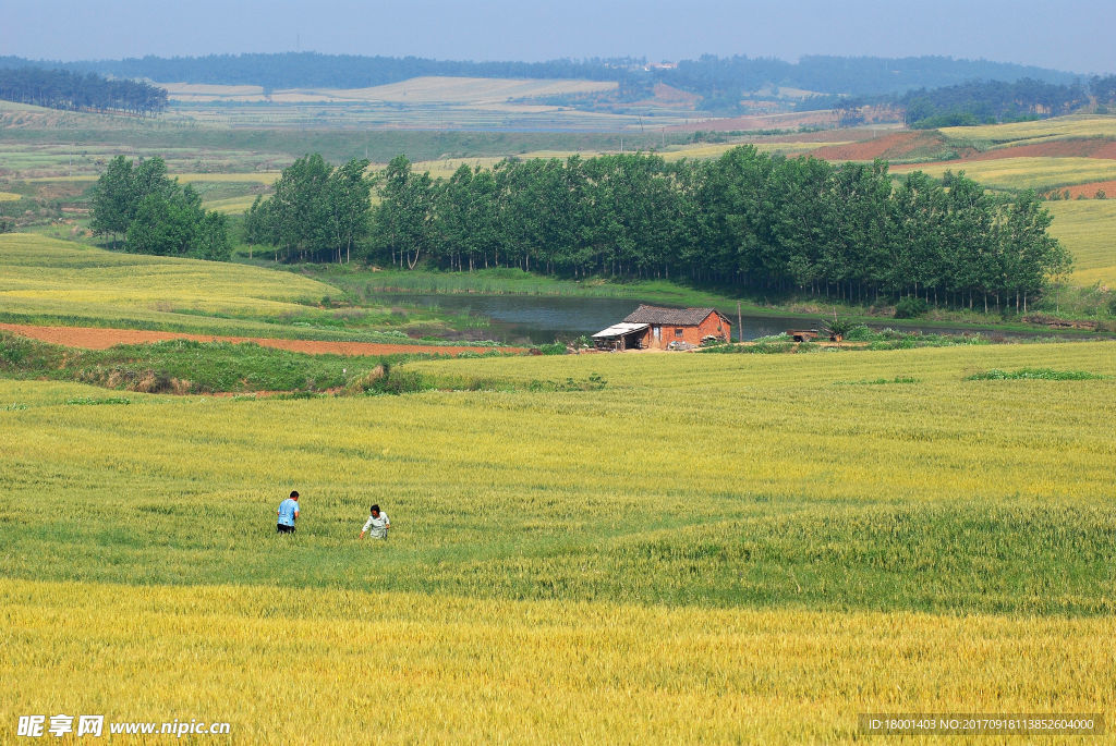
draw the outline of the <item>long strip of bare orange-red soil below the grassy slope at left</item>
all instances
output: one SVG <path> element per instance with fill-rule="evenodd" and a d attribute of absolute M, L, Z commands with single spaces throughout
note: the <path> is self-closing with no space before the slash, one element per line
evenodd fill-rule
<path fill-rule="evenodd" d="M 312 339 L 269 339 L 259 337 L 215 337 L 212 335 L 185 335 L 174 331 L 147 331 L 144 329 L 96 329 L 90 327 L 32 327 L 19 323 L 0 323 L 0 329 L 30 337 L 45 342 L 80 347 L 88 350 L 105 350 L 116 345 L 148 345 L 169 339 L 192 339 L 199 342 L 256 342 L 260 347 L 273 347 L 291 352 L 310 355 L 347 355 L 350 357 L 371 355 L 394 355 L 396 352 L 427 352 L 431 355 L 456 355 L 459 352 L 487 352 L 491 347 L 432 346 L 432 345 L 379 345 L 375 342 L 333 342 Z M 504 352 L 526 352 L 522 347 L 501 347 Z"/>

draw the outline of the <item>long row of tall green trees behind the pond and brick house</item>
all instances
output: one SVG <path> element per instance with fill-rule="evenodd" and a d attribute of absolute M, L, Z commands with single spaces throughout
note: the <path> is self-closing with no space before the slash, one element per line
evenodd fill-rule
<path fill-rule="evenodd" d="M 277 246 L 280 261 L 341 261 L 352 250 L 407 269 L 518 267 L 970 308 L 1026 306 L 1070 264 L 1035 194 L 995 196 L 953 174 L 896 182 L 883 162 L 834 165 L 742 146 L 677 163 L 646 154 L 506 159 L 462 165 L 445 180 L 404 156 L 359 177 L 363 163 L 337 169 L 346 190 L 330 186 L 337 172 L 319 156 L 300 159 L 288 169 L 292 192 L 277 186 L 249 212 L 249 238 Z M 362 181 L 377 197 L 366 213 Z"/>

